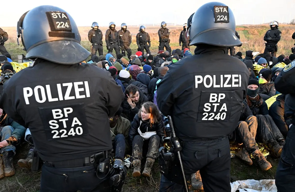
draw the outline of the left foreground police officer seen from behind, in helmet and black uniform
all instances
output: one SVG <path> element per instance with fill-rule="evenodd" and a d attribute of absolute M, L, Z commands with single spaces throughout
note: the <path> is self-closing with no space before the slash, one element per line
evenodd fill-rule
<path fill-rule="evenodd" d="M 30 128 L 44 162 L 41 191 L 109 192 L 111 174 L 100 172 L 97 165 L 101 161 L 100 168 L 114 169 L 105 166 L 107 150 L 112 149 L 108 117 L 120 107 L 122 88 L 110 73 L 79 64 L 90 53 L 63 9 L 36 7 L 22 15 L 17 26 L 26 58 L 37 59 L 4 84 L 0 108 Z M 39 27 L 37 35 L 34 26 Z"/>

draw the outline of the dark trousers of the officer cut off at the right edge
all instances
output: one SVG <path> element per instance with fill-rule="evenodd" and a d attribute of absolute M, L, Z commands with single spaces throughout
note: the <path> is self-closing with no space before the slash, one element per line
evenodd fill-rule
<path fill-rule="evenodd" d="M 291 125 L 281 159 L 276 170 L 278 192 L 291 192 L 295 188 L 295 126 Z"/>

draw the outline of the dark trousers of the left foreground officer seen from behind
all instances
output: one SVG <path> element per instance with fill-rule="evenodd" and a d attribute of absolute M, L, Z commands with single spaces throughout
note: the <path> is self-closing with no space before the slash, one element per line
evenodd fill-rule
<path fill-rule="evenodd" d="M 101 175 L 100 178 L 103 178 Z M 94 165 L 74 168 L 42 166 L 40 192 L 109 192 L 109 179 L 97 178 Z"/>

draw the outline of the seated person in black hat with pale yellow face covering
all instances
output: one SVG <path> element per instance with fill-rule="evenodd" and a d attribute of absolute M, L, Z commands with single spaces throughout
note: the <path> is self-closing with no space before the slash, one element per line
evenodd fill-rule
<path fill-rule="evenodd" d="M 264 101 L 276 94 L 275 83 L 271 82 L 271 73 L 271 69 L 265 70 L 259 77 L 260 86 L 258 93 L 260 93 L 260 96 Z"/>

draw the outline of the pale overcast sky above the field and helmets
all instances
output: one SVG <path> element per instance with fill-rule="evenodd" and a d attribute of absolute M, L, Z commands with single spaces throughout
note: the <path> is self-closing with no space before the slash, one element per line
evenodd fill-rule
<path fill-rule="evenodd" d="M 75 2 L 76 1 L 76 2 Z M 53 5 L 68 12 L 78 26 L 91 26 L 98 22 L 100 26 L 108 26 L 109 22 L 117 25 L 153 24 L 162 21 L 183 25 L 189 16 L 210 0 L 12 0 L 2 4 L 0 11 L 0 27 L 17 25 L 19 17 L 26 11 L 40 6 Z M 290 22 L 295 18 L 294 0 L 222 0 L 219 1 L 232 9 L 236 25 L 261 24 L 273 20 Z M 5 8 L 3 7 L 5 5 Z"/>

